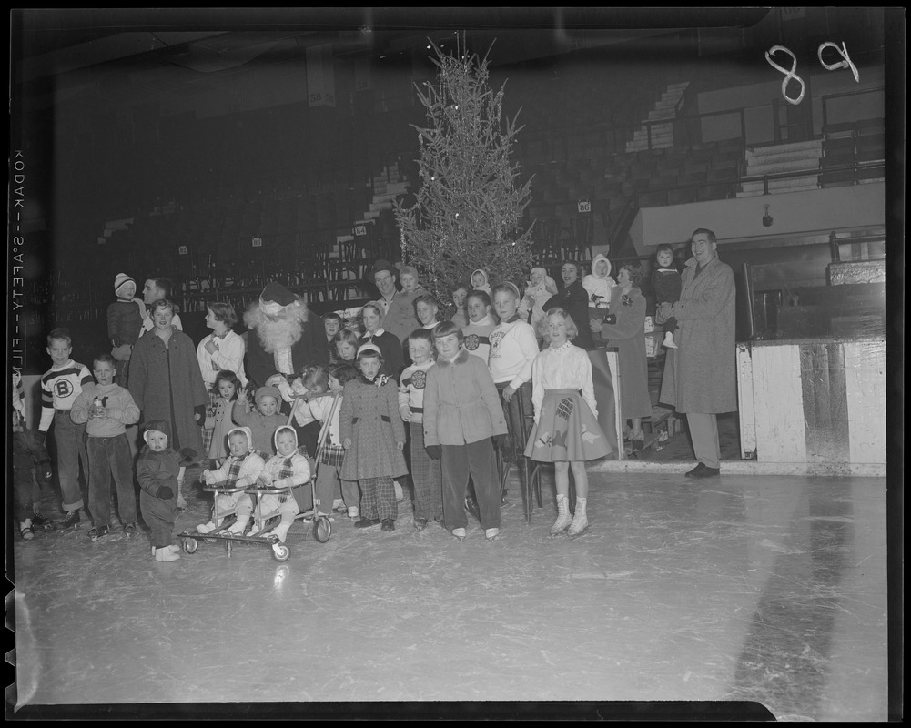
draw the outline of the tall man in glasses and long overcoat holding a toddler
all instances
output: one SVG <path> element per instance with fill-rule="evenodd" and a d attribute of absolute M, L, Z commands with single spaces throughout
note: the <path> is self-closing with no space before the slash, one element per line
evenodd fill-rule
<path fill-rule="evenodd" d="M 661 303 L 659 320 L 677 319 L 664 363 L 660 402 L 684 413 L 699 463 L 687 477 L 720 473 L 716 415 L 737 409 L 736 291 L 731 266 L 718 258 L 718 239 L 705 228 L 690 238 L 692 257 L 681 274 L 680 300 Z"/>

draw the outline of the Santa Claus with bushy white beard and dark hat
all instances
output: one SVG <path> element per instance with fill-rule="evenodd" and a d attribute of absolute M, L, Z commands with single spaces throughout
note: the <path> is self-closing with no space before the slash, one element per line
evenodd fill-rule
<path fill-rule="evenodd" d="M 277 386 L 282 397 L 292 398 L 292 374 L 309 364 L 329 365 L 329 342 L 322 320 L 300 296 L 281 283 L 271 282 L 243 316 L 251 330 L 247 339 L 246 372 L 254 387 Z"/>

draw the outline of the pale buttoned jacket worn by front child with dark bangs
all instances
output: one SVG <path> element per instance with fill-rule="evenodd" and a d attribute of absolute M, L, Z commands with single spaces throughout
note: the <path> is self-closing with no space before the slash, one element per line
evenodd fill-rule
<path fill-rule="evenodd" d="M 438 359 L 427 370 L 425 445 L 467 445 L 506 434 L 494 378 L 480 357 L 463 347 L 454 361 Z"/>

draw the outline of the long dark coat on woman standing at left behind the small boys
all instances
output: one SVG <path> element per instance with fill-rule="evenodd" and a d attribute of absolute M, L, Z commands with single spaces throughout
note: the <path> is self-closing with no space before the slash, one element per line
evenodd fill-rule
<path fill-rule="evenodd" d="M 210 398 L 202 384 L 196 346 L 186 333 L 173 331 L 167 347 L 154 330 L 140 336 L 129 359 L 128 390 L 142 422 L 169 423 L 174 433 L 170 446 L 175 451 L 190 447 L 202 455 L 194 410 L 209 405 Z"/>

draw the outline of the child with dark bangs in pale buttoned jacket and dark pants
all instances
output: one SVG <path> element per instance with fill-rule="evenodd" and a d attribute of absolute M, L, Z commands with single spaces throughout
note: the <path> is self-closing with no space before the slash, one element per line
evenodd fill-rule
<path fill-rule="evenodd" d="M 455 323 L 434 329 L 437 359 L 427 370 L 424 443 L 427 455 L 443 460 L 443 518 L 455 538 L 466 537 L 465 492 L 475 483 L 481 528 L 488 540 L 500 532 L 500 493 L 494 443 L 507 436 L 493 377 L 480 357 L 468 354 Z"/>

